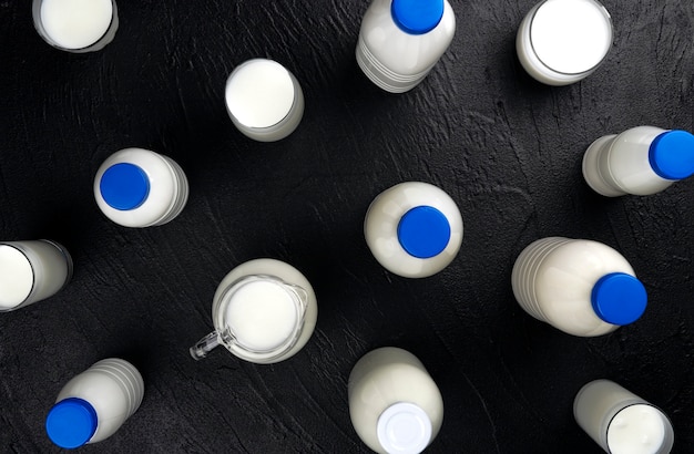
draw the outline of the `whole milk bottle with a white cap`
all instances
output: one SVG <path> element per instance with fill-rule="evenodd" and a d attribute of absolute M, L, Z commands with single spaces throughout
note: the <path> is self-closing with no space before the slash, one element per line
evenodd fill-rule
<path fill-rule="evenodd" d="M 443 422 L 441 393 L 423 364 L 394 347 L 376 349 L 357 361 L 349 374 L 348 399 L 357 435 L 377 453 L 420 453 Z"/>

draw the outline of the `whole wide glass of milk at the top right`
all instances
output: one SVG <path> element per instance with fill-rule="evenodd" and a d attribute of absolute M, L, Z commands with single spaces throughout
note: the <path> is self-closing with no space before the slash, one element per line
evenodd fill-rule
<path fill-rule="evenodd" d="M 525 71 L 549 85 L 590 75 L 612 47 L 612 21 L 594 0 L 547 0 L 535 4 L 518 30 L 516 49 Z"/>

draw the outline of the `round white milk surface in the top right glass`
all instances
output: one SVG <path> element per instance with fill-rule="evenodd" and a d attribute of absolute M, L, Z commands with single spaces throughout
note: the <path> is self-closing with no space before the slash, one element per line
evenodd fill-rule
<path fill-rule="evenodd" d="M 590 71 L 612 47 L 610 13 L 594 0 L 547 0 L 532 18 L 530 42 L 538 59 L 553 71 Z"/>

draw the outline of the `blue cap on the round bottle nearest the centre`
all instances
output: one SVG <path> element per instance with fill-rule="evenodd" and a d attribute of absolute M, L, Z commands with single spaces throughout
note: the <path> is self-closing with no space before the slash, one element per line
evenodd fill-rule
<path fill-rule="evenodd" d="M 398 240 L 410 256 L 431 258 L 441 254 L 448 246 L 450 224 L 438 209 L 418 206 L 400 218 Z"/>

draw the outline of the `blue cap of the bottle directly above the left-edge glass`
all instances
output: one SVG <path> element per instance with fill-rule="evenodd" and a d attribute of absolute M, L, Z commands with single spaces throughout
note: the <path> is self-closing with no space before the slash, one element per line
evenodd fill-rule
<path fill-rule="evenodd" d="M 103 173 L 99 185 L 110 207 L 121 210 L 137 208 L 150 194 L 150 178 L 134 164 L 114 164 Z"/>

